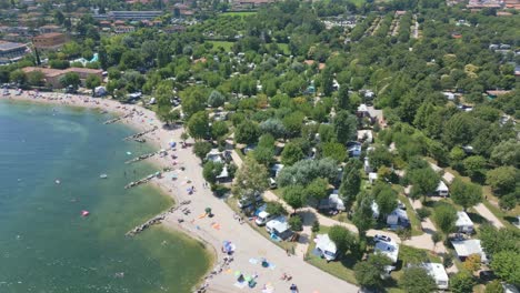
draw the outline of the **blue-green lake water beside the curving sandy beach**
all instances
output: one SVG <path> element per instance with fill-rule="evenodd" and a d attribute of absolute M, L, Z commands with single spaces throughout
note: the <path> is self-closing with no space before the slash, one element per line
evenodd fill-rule
<path fill-rule="evenodd" d="M 124 164 L 152 149 L 123 142 L 136 131 L 103 125 L 110 118 L 0 101 L 0 292 L 182 293 L 206 273 L 194 240 L 161 228 L 124 236 L 172 202 L 149 185 L 123 189 L 157 170 Z"/>

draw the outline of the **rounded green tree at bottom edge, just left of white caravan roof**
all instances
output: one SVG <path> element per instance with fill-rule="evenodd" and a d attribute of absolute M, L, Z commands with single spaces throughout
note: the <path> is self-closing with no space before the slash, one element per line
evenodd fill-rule
<path fill-rule="evenodd" d="M 404 269 L 399 285 L 406 292 L 429 293 L 437 291 L 436 280 L 428 274 L 422 266 L 409 266 Z"/>

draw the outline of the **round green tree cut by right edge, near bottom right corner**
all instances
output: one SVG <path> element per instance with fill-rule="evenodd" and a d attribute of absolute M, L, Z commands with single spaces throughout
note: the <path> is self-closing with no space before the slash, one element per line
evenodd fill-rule
<path fill-rule="evenodd" d="M 493 254 L 491 269 L 507 283 L 520 285 L 520 252 L 501 251 Z"/>

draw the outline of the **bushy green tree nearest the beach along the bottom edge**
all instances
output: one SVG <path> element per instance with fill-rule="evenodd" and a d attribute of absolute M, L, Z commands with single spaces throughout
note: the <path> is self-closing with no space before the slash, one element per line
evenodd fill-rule
<path fill-rule="evenodd" d="M 384 267 L 391 265 L 392 261 L 382 254 L 370 255 L 368 261 L 358 262 L 354 267 L 354 276 L 358 283 L 363 287 L 381 287 L 384 274 Z"/>

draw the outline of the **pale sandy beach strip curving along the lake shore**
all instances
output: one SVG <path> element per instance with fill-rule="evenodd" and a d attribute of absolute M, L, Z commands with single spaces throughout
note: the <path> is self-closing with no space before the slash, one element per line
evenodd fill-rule
<path fill-rule="evenodd" d="M 196 291 L 290 292 L 291 284 L 296 284 L 301 293 L 358 292 L 357 286 L 306 263 L 301 257 L 288 256 L 284 250 L 249 225 L 241 224 L 233 219 L 234 212 L 206 186 L 200 160 L 192 153 L 191 148 L 180 148 L 182 128 L 163 128 L 154 112 L 139 105 L 62 93 L 38 95 L 36 98 L 33 92 L 14 95 L 11 92 L 10 95 L 1 97 L 0 100 L 42 102 L 108 111 L 123 117 L 114 123 L 126 123 L 138 132 L 149 131 L 140 139 L 146 139 L 158 149 L 167 150 L 168 155 L 153 155 L 147 159 L 161 169 L 171 169 L 171 171 L 163 172 L 161 178 L 154 178 L 150 182 L 172 196 L 177 204 L 182 204 L 158 215 L 156 222 L 199 239 L 214 251 L 217 257 L 213 267 Z M 156 130 L 151 131 L 153 128 Z M 170 148 L 171 142 L 177 142 L 174 150 Z M 194 192 L 190 194 L 188 189 L 191 188 L 194 188 Z M 212 218 L 206 216 L 206 208 L 211 208 Z M 236 246 L 232 255 L 221 252 L 222 243 L 226 241 L 232 242 Z M 262 260 L 269 263 L 269 267 L 261 265 Z M 179 269 L 182 270 L 182 267 Z M 292 280 L 282 280 L 283 274 L 291 275 Z M 257 285 L 250 289 L 247 282 L 238 282 L 240 275 L 247 280 L 256 276 Z"/>

